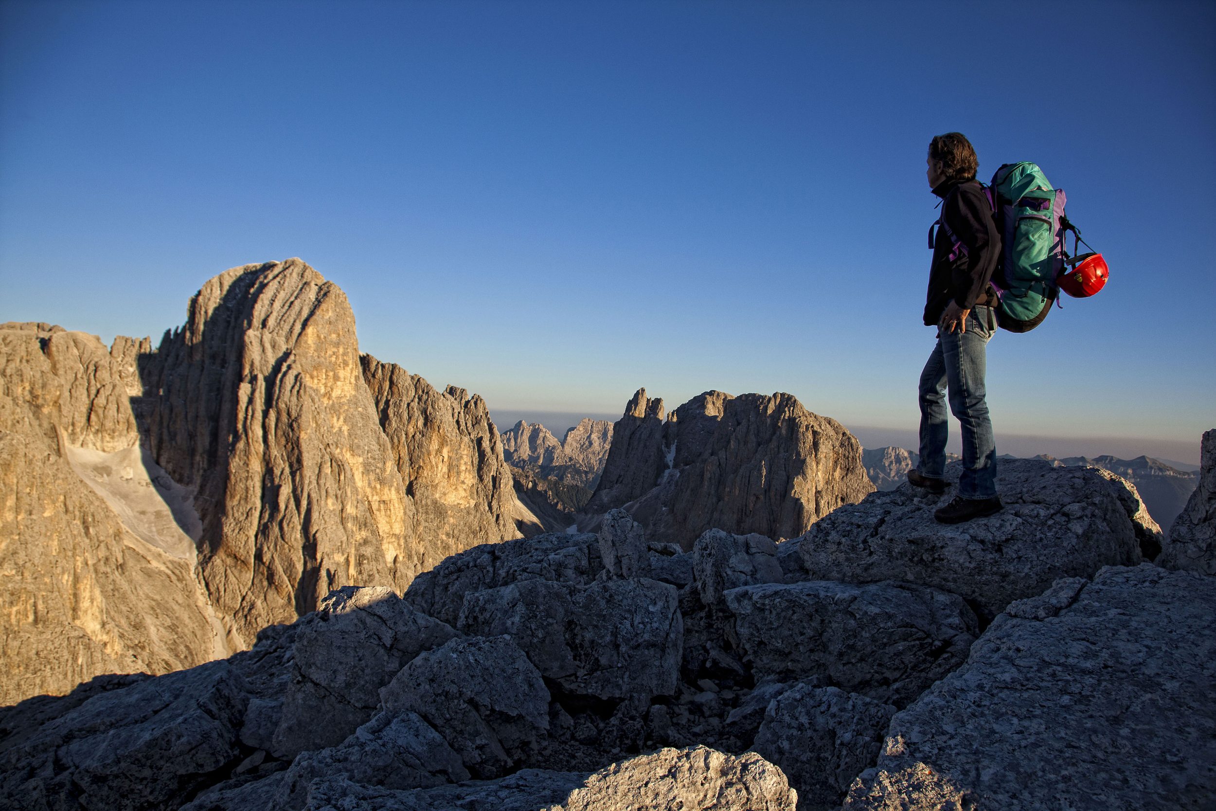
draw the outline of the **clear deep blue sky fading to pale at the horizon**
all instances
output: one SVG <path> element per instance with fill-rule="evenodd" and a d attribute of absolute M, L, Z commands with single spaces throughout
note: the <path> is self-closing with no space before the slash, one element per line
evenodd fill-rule
<path fill-rule="evenodd" d="M 1040 163 L 1111 266 L 993 339 L 998 443 L 1198 457 L 1216 4 L 1010 7 L 5 0 L 0 321 L 158 337 L 302 257 L 365 351 L 495 410 L 783 390 L 911 428 L 925 146 L 961 130 L 983 178 Z"/>

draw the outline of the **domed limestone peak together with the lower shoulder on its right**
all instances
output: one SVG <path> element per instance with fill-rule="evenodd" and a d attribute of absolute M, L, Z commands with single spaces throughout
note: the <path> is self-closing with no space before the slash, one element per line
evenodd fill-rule
<path fill-rule="evenodd" d="M 152 452 L 197 488 L 199 575 L 242 647 L 332 588 L 401 591 L 514 535 L 485 404 L 360 359 L 345 294 L 298 259 L 207 282 L 142 371 Z"/>

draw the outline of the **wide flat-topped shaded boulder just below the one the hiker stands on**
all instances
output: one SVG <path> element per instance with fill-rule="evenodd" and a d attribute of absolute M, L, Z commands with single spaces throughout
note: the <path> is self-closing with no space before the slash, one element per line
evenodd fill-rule
<path fill-rule="evenodd" d="M 902 582 L 744 586 L 726 604 L 756 678 L 827 676 L 896 706 L 961 665 L 978 635 L 957 595 Z"/>

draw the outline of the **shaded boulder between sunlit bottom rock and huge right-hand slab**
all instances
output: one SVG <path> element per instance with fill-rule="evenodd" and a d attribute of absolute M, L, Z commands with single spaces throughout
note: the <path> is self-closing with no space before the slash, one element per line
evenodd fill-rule
<path fill-rule="evenodd" d="M 835 811 L 878 758 L 893 715 L 857 693 L 796 685 L 770 702 L 751 748 L 786 772 L 798 811 Z"/>

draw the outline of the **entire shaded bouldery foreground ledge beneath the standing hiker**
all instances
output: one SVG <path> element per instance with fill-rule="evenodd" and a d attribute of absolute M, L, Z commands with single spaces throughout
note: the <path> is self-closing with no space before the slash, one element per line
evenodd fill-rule
<path fill-rule="evenodd" d="M 906 485 L 689 552 L 610 512 L 337 590 L 0 710 L 0 809 L 1214 807 L 1216 579 L 1142 562 L 1118 478 L 1001 472 L 955 528 Z"/>

